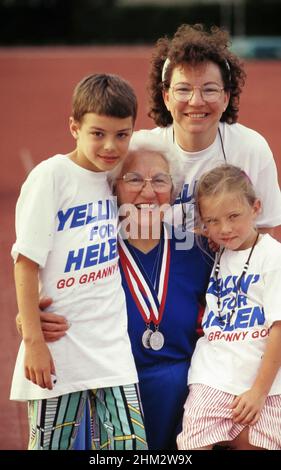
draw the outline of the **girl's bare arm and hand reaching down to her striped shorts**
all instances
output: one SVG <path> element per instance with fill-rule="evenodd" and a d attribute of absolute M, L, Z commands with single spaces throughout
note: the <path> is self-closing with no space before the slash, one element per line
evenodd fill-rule
<path fill-rule="evenodd" d="M 233 420 L 241 424 L 255 424 L 281 367 L 281 321 L 273 323 L 269 330 L 267 346 L 253 386 L 233 401 Z M 243 371 L 242 371 L 243 373 Z"/>

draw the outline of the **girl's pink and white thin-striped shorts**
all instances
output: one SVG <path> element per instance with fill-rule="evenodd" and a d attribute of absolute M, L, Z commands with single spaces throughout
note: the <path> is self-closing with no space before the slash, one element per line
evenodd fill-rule
<path fill-rule="evenodd" d="M 228 406 L 235 395 L 207 385 L 189 387 L 183 430 L 178 449 L 200 449 L 235 439 L 246 425 L 234 423 Z M 281 450 L 281 395 L 268 396 L 256 424 L 249 426 L 249 443 L 268 450 Z"/>

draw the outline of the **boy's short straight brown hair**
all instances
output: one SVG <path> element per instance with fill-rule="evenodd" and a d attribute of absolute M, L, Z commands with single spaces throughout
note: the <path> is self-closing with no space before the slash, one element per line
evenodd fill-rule
<path fill-rule="evenodd" d="M 132 86 L 118 75 L 93 74 L 75 87 L 72 116 L 80 122 L 86 113 L 116 118 L 137 117 L 137 98 Z"/>

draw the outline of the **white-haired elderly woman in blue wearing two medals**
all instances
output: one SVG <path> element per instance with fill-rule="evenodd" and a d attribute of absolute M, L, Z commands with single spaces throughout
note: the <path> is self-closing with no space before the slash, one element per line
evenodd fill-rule
<path fill-rule="evenodd" d="M 179 236 L 163 224 L 182 185 L 173 152 L 157 135 L 136 132 L 125 163 L 109 175 L 120 210 L 120 269 L 150 449 L 176 448 L 212 265 L 192 233 Z M 67 334 L 67 325 L 53 313 L 42 313 L 42 325 L 49 341 Z M 85 447 L 82 432 L 77 448 Z"/>

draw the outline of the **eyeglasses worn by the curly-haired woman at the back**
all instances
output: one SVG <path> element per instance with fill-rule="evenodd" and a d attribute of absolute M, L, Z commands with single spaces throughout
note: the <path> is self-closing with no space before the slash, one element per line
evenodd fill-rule
<path fill-rule="evenodd" d="M 202 100 L 206 101 L 207 103 L 215 103 L 218 101 L 221 97 L 222 91 L 224 90 L 224 87 L 220 87 L 215 83 L 204 85 L 202 87 L 180 83 L 170 88 L 172 90 L 173 97 L 180 103 L 186 103 L 187 101 L 190 101 L 194 95 L 195 88 L 200 90 Z"/>

